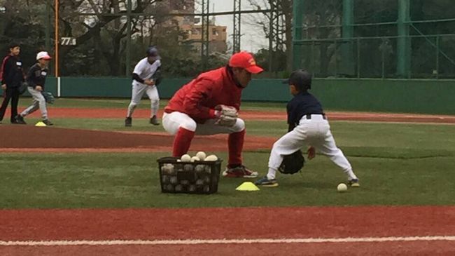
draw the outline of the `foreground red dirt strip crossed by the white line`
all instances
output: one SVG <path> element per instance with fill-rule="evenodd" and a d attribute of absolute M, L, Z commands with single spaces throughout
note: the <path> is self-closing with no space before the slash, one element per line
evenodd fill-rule
<path fill-rule="evenodd" d="M 453 227 L 454 206 L 0 210 L 0 254 L 453 255 Z"/>

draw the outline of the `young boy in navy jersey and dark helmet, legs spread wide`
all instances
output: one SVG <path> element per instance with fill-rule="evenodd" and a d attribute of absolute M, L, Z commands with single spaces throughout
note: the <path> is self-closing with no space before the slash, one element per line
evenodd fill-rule
<path fill-rule="evenodd" d="M 283 156 L 293 154 L 307 146 L 309 147 L 308 159 L 313 159 L 316 151 L 328 156 L 346 173 L 348 184 L 351 187 L 360 187 L 351 164 L 335 144 L 321 103 L 307 91 L 311 89 L 311 74 L 299 69 L 290 74 L 290 78 L 284 83 L 289 85 L 290 93 L 294 95 L 287 106 L 288 133 L 274 143 L 269 157 L 269 171 L 255 184 L 264 187 L 278 187 L 275 176 L 276 170 L 283 161 Z"/>

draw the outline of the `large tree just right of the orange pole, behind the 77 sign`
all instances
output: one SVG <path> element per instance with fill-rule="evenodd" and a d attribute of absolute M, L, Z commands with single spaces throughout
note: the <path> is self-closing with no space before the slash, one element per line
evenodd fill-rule
<path fill-rule="evenodd" d="M 159 0 L 132 1 L 131 13 L 153 11 L 157 1 Z M 78 46 L 85 43 L 95 46 L 106 59 L 110 69 L 109 74 L 121 75 L 123 74 L 121 56 L 125 53 L 127 29 L 131 27 L 132 36 L 134 36 L 139 32 L 138 26 L 144 25 L 141 22 L 146 19 L 134 16 L 131 23 L 127 22 L 125 16 L 121 16 L 127 14 L 126 6 L 127 0 L 60 0 L 60 22 L 63 24 L 60 33 L 62 36 L 75 37 Z M 93 15 L 87 16 L 90 13 Z M 62 47 L 61 54 L 69 55 L 69 52 L 78 46 Z M 98 55 L 96 59 L 99 60 L 99 57 Z M 70 65 L 69 62 L 62 63 L 66 66 Z M 63 70 L 69 72 L 68 67 Z"/>

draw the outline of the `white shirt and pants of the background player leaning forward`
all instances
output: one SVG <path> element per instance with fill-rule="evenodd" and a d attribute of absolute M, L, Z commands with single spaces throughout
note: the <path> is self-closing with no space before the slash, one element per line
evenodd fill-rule
<path fill-rule="evenodd" d="M 143 80 L 151 79 L 153 74 L 155 74 L 157 69 L 161 66 L 161 60 L 155 60 L 153 64 L 150 64 L 147 59 L 148 58 L 140 60 L 133 71 L 134 74 L 138 74 L 139 78 Z M 158 88 L 155 85 L 148 86 L 145 83 L 140 83 L 133 79 L 131 102 L 128 106 L 127 117 L 132 116 L 134 109 L 136 109 L 139 102 L 141 102 L 144 93 L 147 93 L 148 98 L 151 100 L 151 117 L 158 113 L 158 108 L 160 107 Z"/>

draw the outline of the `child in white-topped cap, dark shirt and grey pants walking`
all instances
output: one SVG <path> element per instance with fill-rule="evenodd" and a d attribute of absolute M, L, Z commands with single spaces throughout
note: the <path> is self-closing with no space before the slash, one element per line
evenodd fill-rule
<path fill-rule="evenodd" d="M 48 52 L 39 52 L 36 55 L 38 63 L 31 66 L 27 72 L 27 83 L 29 93 L 33 98 L 33 103 L 27 107 L 22 113 L 16 116 L 16 121 L 20 124 L 25 124 L 24 116 L 35 112 L 37 109 L 41 111 L 43 123 L 46 126 L 52 126 L 53 123 L 48 119 L 48 109 L 46 108 L 45 98 L 41 92 L 44 90 L 45 78 L 48 76 L 48 64 L 50 60 Z"/>

